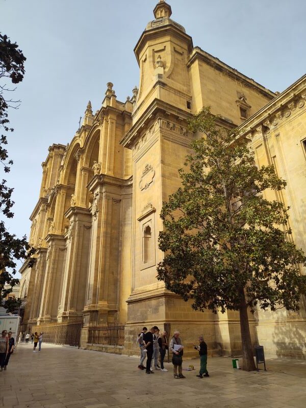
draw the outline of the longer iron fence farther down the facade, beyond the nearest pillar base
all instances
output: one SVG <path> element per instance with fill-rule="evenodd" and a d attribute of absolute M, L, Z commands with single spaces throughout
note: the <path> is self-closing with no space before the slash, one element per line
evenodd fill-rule
<path fill-rule="evenodd" d="M 80 347 L 83 320 L 71 323 L 49 323 L 33 326 L 33 333 L 43 332 L 43 341 L 52 344 L 67 344 Z"/>

